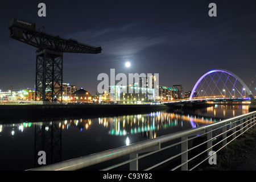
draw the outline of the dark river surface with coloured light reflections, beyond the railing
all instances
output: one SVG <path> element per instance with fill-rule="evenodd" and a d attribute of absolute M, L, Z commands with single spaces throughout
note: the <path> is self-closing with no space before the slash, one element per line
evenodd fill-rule
<path fill-rule="evenodd" d="M 248 113 L 248 106 L 216 105 L 115 117 L 8 124 L 0 121 L 0 170 L 38 167 L 40 150 L 46 151 L 47 164 L 55 163 L 245 113 Z"/>

